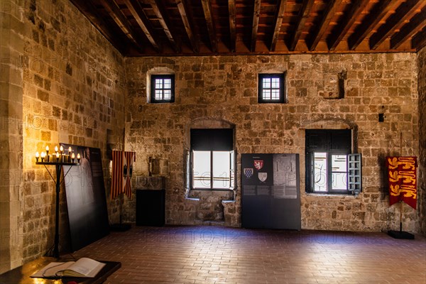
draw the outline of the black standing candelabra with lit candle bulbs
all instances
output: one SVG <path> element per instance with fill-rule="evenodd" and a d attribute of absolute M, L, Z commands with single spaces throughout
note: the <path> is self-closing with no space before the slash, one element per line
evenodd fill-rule
<path fill-rule="evenodd" d="M 40 160 L 40 161 L 39 161 Z M 35 165 L 44 165 L 50 177 L 53 179 L 56 185 L 56 209 L 55 209 L 55 244 L 53 246 L 53 257 L 59 258 L 59 192 L 60 192 L 60 184 L 65 180 L 65 176 L 70 171 L 71 167 L 67 170 L 67 173 L 64 174 L 64 178 L 62 181 L 60 180 L 60 173 L 62 167 L 64 165 L 79 165 L 80 163 L 80 153 L 77 153 L 77 163 L 75 163 L 75 153 L 72 152 L 72 148 L 68 148 L 68 154 L 65 154 L 64 148 L 60 146 L 58 150 L 58 146 L 55 146 L 55 153 L 49 154 L 49 146 L 46 146 L 46 151 L 35 153 Z M 56 179 L 53 178 L 52 173 L 46 165 L 55 165 L 56 168 Z M 48 251 L 49 254 L 51 253 Z"/>

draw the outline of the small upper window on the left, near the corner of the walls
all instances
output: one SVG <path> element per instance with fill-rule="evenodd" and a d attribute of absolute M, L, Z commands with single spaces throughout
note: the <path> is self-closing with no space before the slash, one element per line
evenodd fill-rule
<path fill-rule="evenodd" d="M 151 102 L 175 102 L 175 75 L 151 75 Z"/>

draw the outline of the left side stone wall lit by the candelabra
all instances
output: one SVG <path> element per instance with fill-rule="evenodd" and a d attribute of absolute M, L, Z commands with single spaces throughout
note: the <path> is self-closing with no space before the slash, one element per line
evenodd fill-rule
<path fill-rule="evenodd" d="M 13 151 L 11 144 L 9 151 L 21 156 L 18 180 L 22 183 L 16 194 L 20 213 L 11 217 L 10 227 L 18 228 L 18 259 L 27 262 L 48 251 L 55 231 L 55 185 L 47 170 L 35 165 L 35 151 L 43 151 L 47 145 L 54 148 L 58 143 L 101 148 L 109 200 L 107 143 L 121 143 L 126 89 L 124 58 L 70 1 L 18 3 L 14 8 L 20 22 L 10 21 L 10 28 L 21 34 L 11 35 L 11 45 L 21 47 L 22 55 L 16 58 L 11 53 L 11 60 L 17 62 L 16 72 L 22 80 L 13 89 L 16 102 L 9 97 L 13 104 L 9 110 L 16 109 L 17 114 L 9 112 L 8 118 L 16 117 L 21 129 L 16 138 L 9 138 L 13 143 Z M 19 80 L 19 76 L 16 78 Z M 9 82 L 14 84 L 14 79 Z M 9 156 L 12 161 L 13 155 Z M 116 202 L 109 202 L 113 222 L 118 221 Z M 66 249 L 69 234 L 64 187 L 60 203 L 60 246 Z"/>

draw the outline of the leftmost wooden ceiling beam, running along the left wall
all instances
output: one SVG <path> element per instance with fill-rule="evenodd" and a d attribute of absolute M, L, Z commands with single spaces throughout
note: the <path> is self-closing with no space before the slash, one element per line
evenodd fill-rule
<path fill-rule="evenodd" d="M 121 54 L 126 53 L 126 45 L 125 43 L 122 43 L 119 38 L 114 33 L 111 33 L 108 24 L 104 21 L 104 19 L 99 16 L 99 13 L 97 13 L 96 7 L 92 4 L 91 1 L 78 1 L 78 0 L 71 0 L 72 4 L 79 9 L 84 16 L 86 16 L 90 23 L 93 24 L 97 30 L 104 35 L 107 40 L 114 45 L 114 47 L 119 50 Z"/>

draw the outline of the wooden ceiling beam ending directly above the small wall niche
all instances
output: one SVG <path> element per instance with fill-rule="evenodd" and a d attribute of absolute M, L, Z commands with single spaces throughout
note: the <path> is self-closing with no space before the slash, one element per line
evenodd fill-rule
<path fill-rule="evenodd" d="M 344 35 L 349 31 L 349 29 L 354 25 L 356 18 L 361 14 L 362 11 L 366 8 L 370 0 L 356 0 L 351 6 L 351 10 L 342 16 L 342 23 L 339 23 L 337 31 L 334 31 L 330 35 L 329 40 L 327 40 L 327 45 L 329 50 L 335 50 L 340 41 L 344 38 Z"/>

